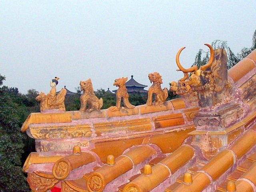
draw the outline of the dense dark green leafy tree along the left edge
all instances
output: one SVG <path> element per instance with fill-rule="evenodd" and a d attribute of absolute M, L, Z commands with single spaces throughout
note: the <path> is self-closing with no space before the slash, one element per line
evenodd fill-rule
<path fill-rule="evenodd" d="M 17 104 L 12 100 L 7 86 L 2 86 L 0 74 L 0 191 L 29 191 L 22 172 L 21 156 L 24 144 L 19 128 Z"/>

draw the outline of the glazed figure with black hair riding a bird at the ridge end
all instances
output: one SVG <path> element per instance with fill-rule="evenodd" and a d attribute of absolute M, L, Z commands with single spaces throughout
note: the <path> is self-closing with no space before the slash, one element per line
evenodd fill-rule
<path fill-rule="evenodd" d="M 56 95 L 56 85 L 58 85 L 58 77 L 55 77 L 50 81 L 51 90 L 46 95 L 43 92 L 40 92 L 40 94 L 36 97 L 36 100 L 40 101 L 40 111 L 44 111 L 47 109 L 58 109 L 65 111 L 65 96 L 67 93 L 67 90 L 65 88 L 62 88 L 62 90 L 59 92 L 58 95 Z"/>

